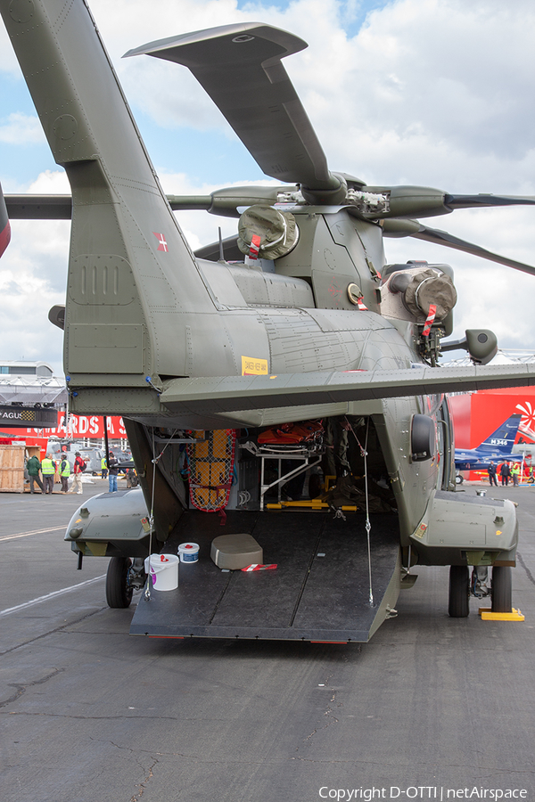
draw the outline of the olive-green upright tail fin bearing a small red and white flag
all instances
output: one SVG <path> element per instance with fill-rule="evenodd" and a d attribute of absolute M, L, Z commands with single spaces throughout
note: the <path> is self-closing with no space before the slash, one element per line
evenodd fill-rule
<path fill-rule="evenodd" d="M 185 317 L 213 313 L 214 302 L 86 3 L 34 0 L 0 11 L 72 190 L 64 344 L 71 386 L 146 388 L 147 376 L 184 375 Z"/>

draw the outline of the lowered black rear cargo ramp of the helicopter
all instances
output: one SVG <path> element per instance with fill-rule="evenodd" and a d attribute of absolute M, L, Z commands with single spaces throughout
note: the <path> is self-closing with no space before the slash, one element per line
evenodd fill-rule
<path fill-rule="evenodd" d="M 364 515 L 323 512 L 187 512 L 162 551 L 200 545 L 199 561 L 180 564 L 176 591 L 142 593 L 130 634 L 160 637 L 369 640 L 399 592 L 397 517 L 372 518 L 369 576 Z M 248 532 L 275 570 L 225 572 L 210 559 L 214 537 Z M 321 556 L 325 555 L 325 556 Z"/>

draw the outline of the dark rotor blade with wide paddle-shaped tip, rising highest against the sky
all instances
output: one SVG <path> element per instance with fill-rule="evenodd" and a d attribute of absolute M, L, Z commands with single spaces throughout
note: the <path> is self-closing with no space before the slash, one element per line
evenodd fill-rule
<path fill-rule="evenodd" d="M 336 189 L 325 153 L 281 63 L 307 47 L 259 22 L 224 25 L 129 50 L 184 64 L 267 176 L 314 190 Z"/>

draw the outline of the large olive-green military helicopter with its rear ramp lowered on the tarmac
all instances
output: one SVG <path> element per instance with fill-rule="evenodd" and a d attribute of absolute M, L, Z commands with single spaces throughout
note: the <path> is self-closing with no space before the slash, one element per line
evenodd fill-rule
<path fill-rule="evenodd" d="M 389 265 L 383 238 L 533 274 L 420 218 L 535 200 L 332 172 L 281 61 L 307 45 L 256 22 L 127 53 L 189 68 L 281 182 L 166 197 L 83 0 L 0 7 L 72 191 L 8 196 L 7 209 L 72 218 L 66 305 L 50 313 L 65 331 L 70 412 L 123 416 L 141 484 L 89 500 L 65 539 L 79 567 L 111 557 L 112 607 L 144 588 L 131 633 L 367 641 L 416 564 L 450 566 L 456 618 L 469 612 L 469 566 L 492 566 L 492 610 L 510 611 L 514 504 L 454 492 L 445 394 L 535 372 L 488 365 L 491 331 L 443 341 L 451 267 Z M 173 209 L 235 217 L 237 235 L 193 254 Z M 454 348 L 473 365 L 441 367 Z M 198 559 L 158 593 L 152 555 L 194 545 Z"/>

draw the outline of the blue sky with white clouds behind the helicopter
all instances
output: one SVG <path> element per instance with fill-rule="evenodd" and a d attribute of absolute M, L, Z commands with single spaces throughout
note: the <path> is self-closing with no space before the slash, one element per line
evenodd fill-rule
<path fill-rule="evenodd" d="M 206 194 L 266 181 L 188 70 L 123 53 L 231 22 L 268 22 L 309 48 L 284 65 L 329 167 L 367 184 L 535 195 L 535 4 L 532 0 L 92 0 L 128 101 L 166 192 Z M 98 87 L 95 87 L 98 91 Z M 4 192 L 69 192 L 54 164 L 0 23 L 0 180 Z M 235 222 L 178 215 L 193 248 Z M 428 225 L 535 265 L 535 209 L 457 211 Z M 69 224 L 12 222 L 0 261 L 0 359 L 43 359 L 62 372 Z M 414 239 L 387 240 L 387 260 L 448 262 L 456 331 L 491 328 L 502 348 L 535 350 L 535 277 Z M 460 354 L 459 354 L 460 356 Z"/>

